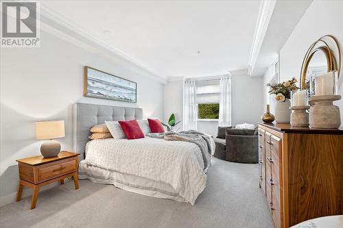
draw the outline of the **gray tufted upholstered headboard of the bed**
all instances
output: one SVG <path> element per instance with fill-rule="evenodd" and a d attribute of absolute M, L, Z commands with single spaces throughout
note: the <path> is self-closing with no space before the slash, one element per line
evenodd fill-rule
<path fill-rule="evenodd" d="M 73 110 L 74 151 L 84 159 L 84 149 L 91 134 L 89 129 L 105 121 L 130 121 L 143 119 L 143 110 L 136 107 L 117 107 L 75 103 Z"/>

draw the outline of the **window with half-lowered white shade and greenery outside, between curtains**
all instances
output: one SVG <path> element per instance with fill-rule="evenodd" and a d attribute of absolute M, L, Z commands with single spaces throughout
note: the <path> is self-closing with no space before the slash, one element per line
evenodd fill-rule
<path fill-rule="evenodd" d="M 219 119 L 219 80 L 197 81 L 196 103 L 198 119 Z"/>

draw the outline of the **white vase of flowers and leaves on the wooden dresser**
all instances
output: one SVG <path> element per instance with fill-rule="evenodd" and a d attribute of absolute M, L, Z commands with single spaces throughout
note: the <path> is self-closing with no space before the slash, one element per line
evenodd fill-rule
<path fill-rule="evenodd" d="M 298 82 L 295 78 L 291 80 L 284 81 L 279 84 L 267 84 L 270 87 L 270 94 L 275 94 L 275 121 L 276 123 L 289 123 L 291 110 L 289 107 L 291 106 L 291 92 L 298 90 L 296 86 L 296 82 Z"/>

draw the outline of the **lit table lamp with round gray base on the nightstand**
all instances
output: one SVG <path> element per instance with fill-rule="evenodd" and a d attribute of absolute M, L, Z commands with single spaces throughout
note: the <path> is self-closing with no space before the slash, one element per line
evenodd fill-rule
<path fill-rule="evenodd" d="M 36 139 L 49 140 L 40 146 L 43 157 L 55 157 L 60 153 L 61 144 L 54 138 L 63 138 L 64 121 L 39 121 L 36 122 Z"/>

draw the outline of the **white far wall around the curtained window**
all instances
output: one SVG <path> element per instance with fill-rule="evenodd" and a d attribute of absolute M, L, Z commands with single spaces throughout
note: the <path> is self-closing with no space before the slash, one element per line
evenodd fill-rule
<path fill-rule="evenodd" d="M 261 116 L 264 113 L 263 77 L 233 75 L 231 83 L 232 125 L 235 126 L 238 123 L 253 123 L 257 125 L 257 122 L 261 120 Z M 180 92 L 180 94 L 177 94 L 177 92 Z M 172 94 L 171 97 L 169 97 L 170 94 Z M 170 99 L 174 100 L 170 101 Z M 169 105 L 174 106 L 169 107 Z M 172 81 L 165 85 L 165 115 L 168 115 L 170 112 L 180 113 L 180 116 L 182 116 L 182 81 Z M 198 121 L 198 131 L 205 132 L 206 134 L 217 136 L 217 128 L 218 121 Z"/>

